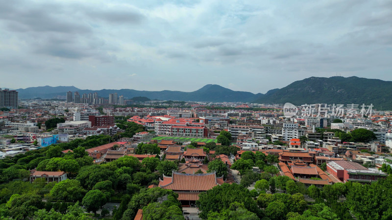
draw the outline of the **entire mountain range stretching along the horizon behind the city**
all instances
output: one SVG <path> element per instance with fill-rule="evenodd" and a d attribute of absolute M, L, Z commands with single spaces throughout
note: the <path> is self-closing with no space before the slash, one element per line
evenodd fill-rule
<path fill-rule="evenodd" d="M 53 98 L 66 95 L 67 91 L 83 93 L 97 92 L 100 97 L 110 93 L 132 98 L 145 96 L 149 99 L 208 102 L 250 102 L 250 103 L 293 103 L 301 104 L 373 104 L 380 110 L 392 109 L 392 82 L 359 77 L 334 76 L 329 78 L 310 77 L 284 87 L 269 90 L 267 93 L 233 91 L 219 85 L 206 85 L 193 92 L 183 91 L 139 91 L 134 89 L 82 90 L 75 87 L 31 87 L 17 89 L 21 99 Z"/>

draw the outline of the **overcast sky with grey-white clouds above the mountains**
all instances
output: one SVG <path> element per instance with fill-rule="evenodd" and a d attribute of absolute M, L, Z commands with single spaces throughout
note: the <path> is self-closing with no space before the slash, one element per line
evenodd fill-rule
<path fill-rule="evenodd" d="M 132 2 L 132 3 L 129 3 Z M 392 0 L 0 0 L 0 87 L 392 81 Z"/>

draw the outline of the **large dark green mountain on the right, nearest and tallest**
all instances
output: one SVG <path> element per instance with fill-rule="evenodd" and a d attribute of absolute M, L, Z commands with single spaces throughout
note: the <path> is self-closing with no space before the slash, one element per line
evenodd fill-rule
<path fill-rule="evenodd" d="M 373 104 L 378 110 L 392 109 L 392 82 L 378 79 L 334 76 L 310 77 L 287 87 L 259 95 L 254 103 Z"/>

